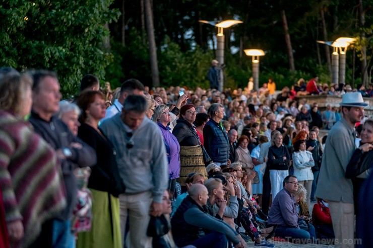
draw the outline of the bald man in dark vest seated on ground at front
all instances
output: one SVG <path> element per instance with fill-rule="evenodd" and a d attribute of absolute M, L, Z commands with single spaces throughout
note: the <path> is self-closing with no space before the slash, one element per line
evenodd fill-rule
<path fill-rule="evenodd" d="M 227 238 L 234 247 L 246 247 L 245 241 L 227 223 L 203 211 L 202 206 L 209 198 L 204 185 L 192 185 L 188 194 L 171 219 L 172 235 L 178 247 L 191 244 L 197 248 L 225 248 Z M 204 229 L 211 232 L 206 234 Z"/>

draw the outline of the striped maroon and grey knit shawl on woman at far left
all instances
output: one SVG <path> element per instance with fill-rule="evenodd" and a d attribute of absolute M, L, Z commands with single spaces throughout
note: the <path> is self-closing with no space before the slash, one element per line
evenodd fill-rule
<path fill-rule="evenodd" d="M 31 125 L 0 110 L 0 185 L 6 221 L 22 220 L 24 237 L 13 247 L 27 247 L 41 224 L 66 206 L 54 150 Z"/>

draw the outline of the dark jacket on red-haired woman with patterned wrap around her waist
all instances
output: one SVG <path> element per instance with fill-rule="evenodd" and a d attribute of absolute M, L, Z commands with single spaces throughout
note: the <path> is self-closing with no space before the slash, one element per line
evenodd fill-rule
<path fill-rule="evenodd" d="M 180 146 L 200 145 L 198 134 L 194 127 L 187 120 L 179 118 L 176 126 L 172 130 Z"/>

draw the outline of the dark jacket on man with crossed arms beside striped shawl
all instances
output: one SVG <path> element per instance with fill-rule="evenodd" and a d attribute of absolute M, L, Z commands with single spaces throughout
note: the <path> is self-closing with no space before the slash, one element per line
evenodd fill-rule
<path fill-rule="evenodd" d="M 72 152 L 70 158 L 60 160 L 66 188 L 67 207 L 58 215 L 58 219 L 69 220 L 75 207 L 78 190 L 74 170 L 77 167 L 94 166 L 96 164 L 96 152 L 80 138 L 75 137 L 68 126 L 55 117 L 52 117 L 50 121 L 45 121 L 32 111 L 29 121 L 35 132 L 49 143 L 53 149 L 58 150 L 63 147 L 69 147 Z M 72 142 L 80 143 L 83 147 L 80 149 L 71 147 L 70 144 Z"/>

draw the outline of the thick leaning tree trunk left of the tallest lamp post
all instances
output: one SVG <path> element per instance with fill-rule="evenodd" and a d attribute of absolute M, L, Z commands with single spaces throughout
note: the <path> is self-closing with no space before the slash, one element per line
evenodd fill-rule
<path fill-rule="evenodd" d="M 153 10 L 151 7 L 150 0 L 145 1 L 145 11 L 146 11 L 146 29 L 148 31 L 149 39 L 149 52 L 150 52 L 150 66 L 152 69 L 152 81 L 153 87 L 159 87 L 159 71 L 158 71 L 158 60 L 157 60 L 157 50 L 155 46 L 154 38 L 154 25 L 153 25 Z"/>

